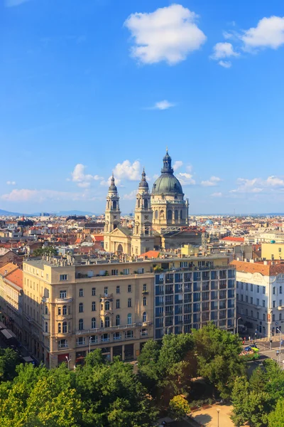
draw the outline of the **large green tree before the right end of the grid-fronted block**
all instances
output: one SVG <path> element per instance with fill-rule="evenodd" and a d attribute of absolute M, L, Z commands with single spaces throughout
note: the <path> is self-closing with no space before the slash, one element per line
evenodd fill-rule
<path fill-rule="evenodd" d="M 198 373 L 210 381 L 223 399 L 229 399 L 236 376 L 244 374 L 236 335 L 217 329 L 212 323 L 193 331 Z"/>

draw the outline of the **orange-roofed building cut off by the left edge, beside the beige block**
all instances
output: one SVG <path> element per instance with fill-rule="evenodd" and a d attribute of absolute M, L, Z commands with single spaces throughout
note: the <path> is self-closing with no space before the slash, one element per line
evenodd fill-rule
<path fill-rule="evenodd" d="M 1 322 L 22 340 L 23 271 L 18 265 L 7 263 L 0 268 Z"/>

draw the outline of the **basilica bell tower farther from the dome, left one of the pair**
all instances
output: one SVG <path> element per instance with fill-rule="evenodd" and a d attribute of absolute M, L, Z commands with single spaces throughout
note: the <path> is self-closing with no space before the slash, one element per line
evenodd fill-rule
<path fill-rule="evenodd" d="M 104 223 L 104 249 L 111 252 L 109 233 L 114 231 L 116 227 L 120 225 L 120 214 L 119 209 L 119 194 L 114 181 L 114 174 L 111 176 L 111 185 L 107 193 L 107 206 L 105 211 L 105 223 Z"/>

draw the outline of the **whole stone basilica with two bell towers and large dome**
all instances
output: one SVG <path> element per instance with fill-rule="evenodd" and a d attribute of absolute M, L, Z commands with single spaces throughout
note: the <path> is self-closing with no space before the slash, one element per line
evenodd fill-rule
<path fill-rule="evenodd" d="M 141 255 L 154 248 L 175 248 L 189 243 L 188 199 L 185 199 L 180 181 L 173 172 L 168 149 L 152 192 L 143 170 L 136 194 L 133 228 L 121 226 L 119 194 L 114 175 L 111 177 L 105 211 L 106 251 L 119 255 Z"/>

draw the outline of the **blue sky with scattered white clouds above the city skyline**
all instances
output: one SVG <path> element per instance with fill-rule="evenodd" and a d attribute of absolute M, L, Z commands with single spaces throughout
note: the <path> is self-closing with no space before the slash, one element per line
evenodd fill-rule
<path fill-rule="evenodd" d="M 130 212 L 165 147 L 191 214 L 283 212 L 282 0 L 0 0 L 0 209 Z"/>

